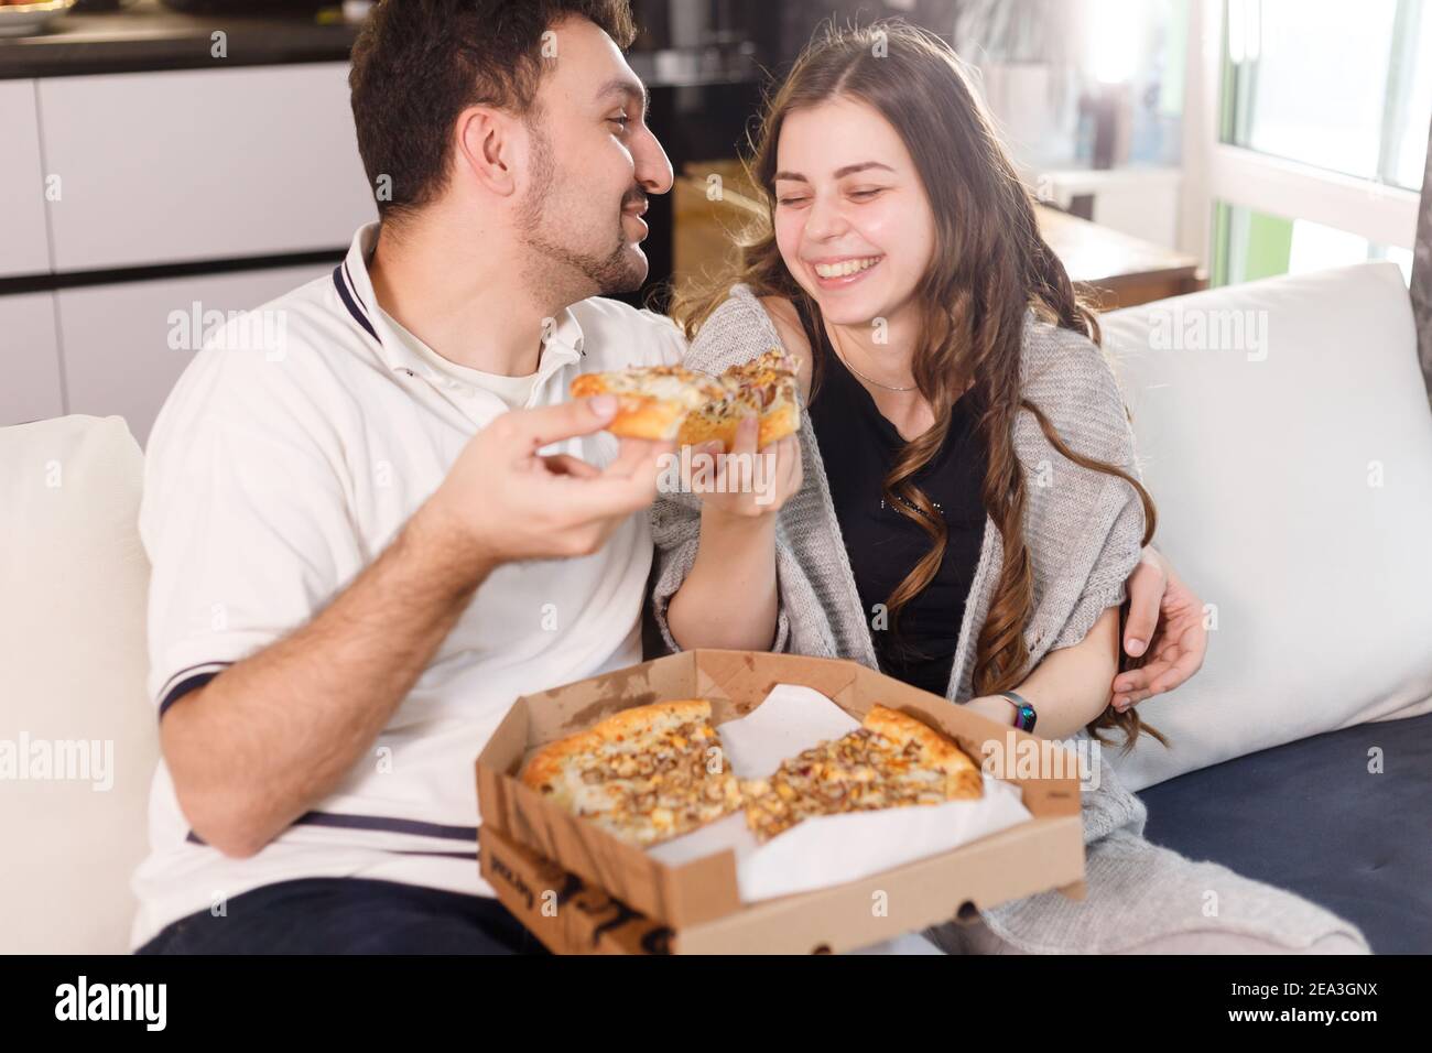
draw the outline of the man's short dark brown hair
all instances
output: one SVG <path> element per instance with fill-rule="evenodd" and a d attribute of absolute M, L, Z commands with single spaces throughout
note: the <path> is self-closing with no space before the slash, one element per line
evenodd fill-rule
<path fill-rule="evenodd" d="M 358 152 L 378 215 L 400 218 L 442 191 L 453 123 L 468 106 L 528 116 L 543 73 L 543 33 L 589 19 L 632 46 L 630 0 L 384 0 L 352 50 Z"/>

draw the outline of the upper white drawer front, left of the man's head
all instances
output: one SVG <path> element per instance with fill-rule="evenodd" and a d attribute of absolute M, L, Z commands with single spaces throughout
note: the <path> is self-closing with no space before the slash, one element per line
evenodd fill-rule
<path fill-rule="evenodd" d="M 39 82 L 60 272 L 341 248 L 377 216 L 348 64 Z"/>

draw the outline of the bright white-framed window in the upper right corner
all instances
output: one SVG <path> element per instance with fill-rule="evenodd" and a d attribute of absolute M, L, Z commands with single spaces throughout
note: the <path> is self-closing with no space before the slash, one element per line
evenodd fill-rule
<path fill-rule="evenodd" d="M 1411 272 L 1432 125 L 1425 0 L 1207 0 L 1214 284 L 1392 259 Z"/>

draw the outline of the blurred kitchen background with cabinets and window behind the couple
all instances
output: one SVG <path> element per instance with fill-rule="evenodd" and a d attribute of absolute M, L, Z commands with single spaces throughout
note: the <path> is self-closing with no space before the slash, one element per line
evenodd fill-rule
<path fill-rule="evenodd" d="M 951 39 L 1077 281 L 1107 307 L 1362 259 L 1412 268 L 1432 122 L 1423 0 L 634 0 L 679 175 L 647 287 L 719 261 L 762 89 L 823 19 Z M 123 415 L 375 215 L 348 109 L 367 3 L 0 4 L 0 425 Z M 712 201 L 710 176 L 722 178 Z M 175 347 L 175 344 L 183 347 Z"/>

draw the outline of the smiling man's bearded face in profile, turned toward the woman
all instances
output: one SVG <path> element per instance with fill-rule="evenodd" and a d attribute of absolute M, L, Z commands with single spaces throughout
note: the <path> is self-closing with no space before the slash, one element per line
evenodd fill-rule
<path fill-rule="evenodd" d="M 517 236 L 530 281 L 566 302 L 629 292 L 646 281 L 649 193 L 672 189 L 672 163 L 646 126 L 646 89 L 611 37 L 586 19 L 553 27 L 527 122 L 531 172 Z"/>

